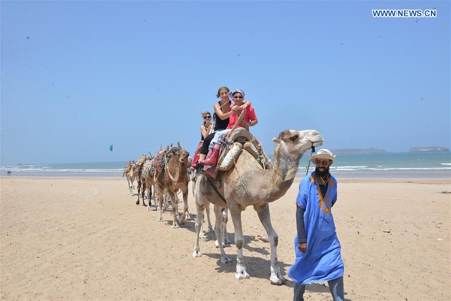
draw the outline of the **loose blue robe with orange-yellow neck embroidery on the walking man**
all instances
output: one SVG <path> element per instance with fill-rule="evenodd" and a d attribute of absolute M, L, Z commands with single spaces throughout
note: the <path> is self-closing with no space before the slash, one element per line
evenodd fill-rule
<path fill-rule="evenodd" d="M 328 281 L 343 276 L 344 263 L 341 245 L 335 232 L 332 203 L 337 200 L 337 180 L 330 176 L 327 192 L 321 196 L 315 172 L 302 179 L 296 205 L 305 208 L 304 226 L 307 250 L 299 251 L 299 237 L 295 237 L 296 261 L 288 275 L 300 285 Z"/>

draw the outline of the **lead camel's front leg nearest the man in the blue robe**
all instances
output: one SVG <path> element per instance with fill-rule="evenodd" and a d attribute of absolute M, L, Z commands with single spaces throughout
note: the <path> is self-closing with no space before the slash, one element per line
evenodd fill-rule
<path fill-rule="evenodd" d="M 269 205 L 265 204 L 262 207 L 254 206 L 255 211 L 259 215 L 260 221 L 262 222 L 263 227 L 265 227 L 266 233 L 268 234 L 268 238 L 270 241 L 271 247 L 271 283 L 281 285 L 284 284 L 287 279 L 282 277 L 280 273 L 279 260 L 277 259 L 277 244 L 279 243 L 279 236 L 276 231 L 273 229 L 273 225 L 271 224 L 271 216 L 269 211 Z"/>

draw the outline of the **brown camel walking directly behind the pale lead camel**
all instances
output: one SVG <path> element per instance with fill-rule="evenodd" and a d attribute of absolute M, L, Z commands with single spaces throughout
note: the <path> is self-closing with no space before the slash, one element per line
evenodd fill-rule
<path fill-rule="evenodd" d="M 186 220 L 191 220 L 188 212 L 188 156 L 189 153 L 186 152 L 177 142 L 177 147 L 172 147 L 168 150 L 169 156 L 164 169 L 161 171 L 157 178 L 158 182 L 158 201 L 160 210 L 160 222 L 163 221 L 163 192 L 166 189 L 167 194 L 169 194 L 171 200 L 171 206 L 173 211 L 173 223 L 172 228 L 179 228 L 179 225 L 183 225 Z M 165 155 L 166 156 L 166 155 Z M 178 206 L 177 199 L 175 195 L 178 190 L 181 190 L 183 194 L 183 213 L 177 220 Z"/>

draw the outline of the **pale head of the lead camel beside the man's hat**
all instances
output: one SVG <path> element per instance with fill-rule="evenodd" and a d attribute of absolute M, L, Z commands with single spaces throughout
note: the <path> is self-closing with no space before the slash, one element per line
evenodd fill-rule
<path fill-rule="evenodd" d="M 321 134 L 314 129 L 281 131 L 279 138 L 273 138 L 279 144 L 283 154 L 293 159 L 300 159 L 312 146 L 322 145 L 324 140 Z"/>

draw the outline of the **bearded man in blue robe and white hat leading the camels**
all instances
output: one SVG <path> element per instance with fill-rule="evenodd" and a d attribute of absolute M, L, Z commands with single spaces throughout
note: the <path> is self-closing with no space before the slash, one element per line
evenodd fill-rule
<path fill-rule="evenodd" d="M 344 300 L 341 245 L 331 208 L 337 201 L 337 180 L 329 173 L 335 156 L 320 149 L 310 161 L 316 169 L 299 184 L 296 198 L 296 261 L 288 275 L 295 282 L 294 301 L 303 301 L 305 285 L 328 281 L 334 301 Z"/>

